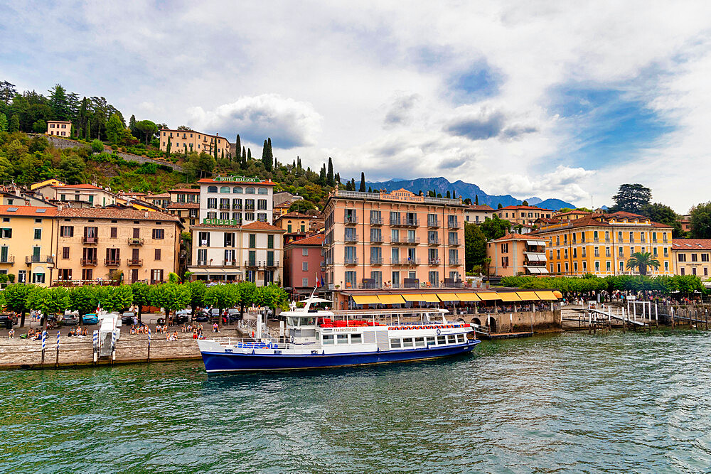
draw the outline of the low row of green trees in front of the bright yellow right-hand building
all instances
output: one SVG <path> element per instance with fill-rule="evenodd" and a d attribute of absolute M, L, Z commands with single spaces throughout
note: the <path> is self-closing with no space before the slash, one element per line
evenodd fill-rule
<path fill-rule="evenodd" d="M 557 289 L 564 293 L 589 293 L 591 291 L 646 291 L 669 295 L 707 294 L 701 279 L 695 275 L 620 275 L 620 276 L 504 276 L 501 286 L 521 289 Z"/>

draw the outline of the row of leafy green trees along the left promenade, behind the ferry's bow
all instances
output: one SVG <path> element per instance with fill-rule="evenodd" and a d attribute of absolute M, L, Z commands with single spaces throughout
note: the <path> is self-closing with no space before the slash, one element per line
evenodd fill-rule
<path fill-rule="evenodd" d="M 105 311 L 123 311 L 132 305 L 165 308 L 166 318 L 190 306 L 193 313 L 198 307 L 212 306 L 220 312 L 226 308 L 265 306 L 282 308 L 289 300 L 287 292 L 281 287 L 256 286 L 250 281 L 236 284 L 205 286 L 202 281 L 189 283 L 164 283 L 149 285 L 137 282 L 117 286 L 76 286 L 72 289 L 63 286 L 46 288 L 31 284 L 9 284 L 0 291 L 0 306 L 7 311 L 21 315 L 20 325 L 25 323 L 25 316 L 31 310 L 41 311 L 43 315 L 57 315 L 66 310 L 77 311 L 81 315 L 92 313 L 97 307 Z M 45 318 L 46 325 L 46 318 Z"/>

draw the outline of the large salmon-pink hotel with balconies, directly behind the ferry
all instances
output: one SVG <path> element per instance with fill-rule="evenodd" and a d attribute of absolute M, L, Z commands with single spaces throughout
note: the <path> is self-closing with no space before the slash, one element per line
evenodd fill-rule
<path fill-rule="evenodd" d="M 461 199 L 408 190 L 334 190 L 324 208 L 326 288 L 459 287 L 464 276 Z"/>

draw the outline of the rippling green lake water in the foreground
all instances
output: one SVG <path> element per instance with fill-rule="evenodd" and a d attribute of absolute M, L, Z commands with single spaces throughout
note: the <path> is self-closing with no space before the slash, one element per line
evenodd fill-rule
<path fill-rule="evenodd" d="M 711 335 L 660 331 L 324 372 L 0 372 L 0 471 L 710 472 L 710 360 Z"/>

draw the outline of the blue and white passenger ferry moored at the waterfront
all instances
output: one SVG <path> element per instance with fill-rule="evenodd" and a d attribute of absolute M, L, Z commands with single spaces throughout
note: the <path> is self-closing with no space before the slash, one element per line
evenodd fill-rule
<path fill-rule="evenodd" d="M 283 337 L 198 340 L 207 372 L 303 370 L 434 359 L 471 352 L 481 341 L 447 310 L 286 311 Z M 223 339 L 224 340 L 224 339 Z"/>

